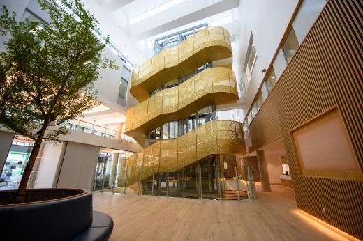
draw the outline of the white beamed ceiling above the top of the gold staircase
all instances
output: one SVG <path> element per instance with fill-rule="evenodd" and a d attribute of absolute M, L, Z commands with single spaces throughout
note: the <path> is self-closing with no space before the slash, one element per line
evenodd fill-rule
<path fill-rule="evenodd" d="M 135 17 L 170 0 L 83 0 L 84 6 L 99 22 L 103 35 L 139 65 L 152 56 L 154 40 L 191 26 L 212 22 L 231 15 L 232 22 L 222 24 L 232 35 L 237 33 L 239 0 L 184 0 L 155 15 L 129 24 Z M 151 47 L 152 46 L 152 47 Z"/>

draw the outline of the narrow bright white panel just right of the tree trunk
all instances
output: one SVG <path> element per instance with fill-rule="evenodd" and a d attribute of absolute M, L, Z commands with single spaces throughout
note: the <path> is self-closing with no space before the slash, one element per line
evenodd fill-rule
<path fill-rule="evenodd" d="M 55 187 L 54 177 L 56 177 L 57 167 L 63 159 L 62 150 L 66 148 L 66 142 L 44 143 L 43 152 L 40 157 L 40 163 L 34 181 L 34 188 Z"/>

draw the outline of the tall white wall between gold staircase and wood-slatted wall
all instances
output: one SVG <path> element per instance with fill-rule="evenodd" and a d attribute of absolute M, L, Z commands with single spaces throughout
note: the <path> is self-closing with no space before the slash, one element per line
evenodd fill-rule
<path fill-rule="evenodd" d="M 241 26 L 237 34 L 239 48 L 235 54 L 237 60 L 234 62 L 233 69 L 239 72 L 236 70 L 241 70 L 245 64 L 251 32 L 258 56 L 251 81 L 245 89 L 246 108 L 251 106 L 265 75 L 260 71 L 268 68 L 271 63 L 297 3 L 297 0 L 242 0 L 239 2 L 238 21 Z M 240 75 L 237 76 L 237 79 L 240 77 Z"/>

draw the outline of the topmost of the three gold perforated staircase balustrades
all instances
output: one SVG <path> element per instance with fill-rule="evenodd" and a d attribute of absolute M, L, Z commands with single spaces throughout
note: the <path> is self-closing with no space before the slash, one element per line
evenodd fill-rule
<path fill-rule="evenodd" d="M 130 93 L 142 102 L 149 98 L 151 91 L 168 81 L 184 77 L 207 62 L 230 57 L 232 48 L 228 31 L 219 26 L 202 29 L 133 70 Z"/>

